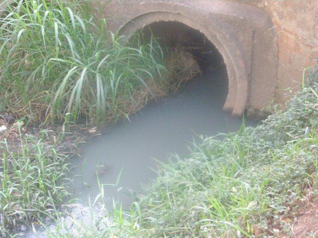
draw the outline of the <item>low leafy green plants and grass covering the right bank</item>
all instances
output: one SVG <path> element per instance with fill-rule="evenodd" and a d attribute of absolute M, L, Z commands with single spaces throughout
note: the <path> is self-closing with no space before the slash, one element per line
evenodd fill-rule
<path fill-rule="evenodd" d="M 88 226 L 71 218 L 76 226 L 50 236 L 290 236 L 296 204 L 317 193 L 317 78 L 316 73 L 286 110 L 259 126 L 242 125 L 223 139 L 202 138 L 188 158 L 162 164 L 158 178 L 130 211 L 97 214 Z M 102 193 L 99 199 L 103 204 Z M 59 227 L 67 226 L 60 222 Z"/>

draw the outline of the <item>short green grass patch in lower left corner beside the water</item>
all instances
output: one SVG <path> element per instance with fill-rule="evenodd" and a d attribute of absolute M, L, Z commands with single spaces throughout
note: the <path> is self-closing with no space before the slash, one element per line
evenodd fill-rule
<path fill-rule="evenodd" d="M 0 235 L 9 237 L 53 213 L 70 196 L 68 157 L 42 139 L 20 133 L 18 150 L 1 141 Z"/>

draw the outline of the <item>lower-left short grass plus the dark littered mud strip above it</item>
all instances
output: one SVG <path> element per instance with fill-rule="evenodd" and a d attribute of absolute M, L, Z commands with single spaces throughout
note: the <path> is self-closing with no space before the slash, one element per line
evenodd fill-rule
<path fill-rule="evenodd" d="M 0 237 L 20 237 L 38 221 L 54 220 L 56 209 L 73 198 L 69 156 L 79 153 L 95 128 L 0 124 L 7 127 L 0 132 Z"/>

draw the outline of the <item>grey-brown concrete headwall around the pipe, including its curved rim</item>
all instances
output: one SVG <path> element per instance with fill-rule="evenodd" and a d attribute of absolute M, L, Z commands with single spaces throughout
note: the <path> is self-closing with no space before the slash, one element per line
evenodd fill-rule
<path fill-rule="evenodd" d="M 277 47 L 275 35 L 268 31 L 272 23 L 261 10 L 225 0 L 120 2 L 115 3 L 120 18 L 112 12 L 106 15 L 113 19 L 112 30 L 120 34 L 129 36 L 154 22 L 173 21 L 206 36 L 227 65 L 224 109 L 233 116 L 245 109 L 258 111 L 274 99 Z"/>

